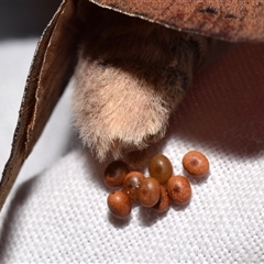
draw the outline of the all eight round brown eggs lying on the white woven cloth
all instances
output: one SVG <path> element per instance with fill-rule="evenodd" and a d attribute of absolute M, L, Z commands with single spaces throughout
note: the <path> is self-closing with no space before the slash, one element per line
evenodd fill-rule
<path fill-rule="evenodd" d="M 190 151 L 183 157 L 185 170 L 193 177 L 205 177 L 209 172 L 208 158 L 198 151 Z M 111 213 L 124 219 L 130 216 L 132 202 L 153 208 L 157 212 L 168 209 L 170 200 L 176 205 L 186 205 L 191 198 L 189 180 L 173 174 L 172 162 L 163 154 L 153 156 L 148 162 L 150 177 L 141 172 L 130 170 L 128 164 L 114 161 L 105 170 L 105 184 L 118 188 L 108 196 Z"/>

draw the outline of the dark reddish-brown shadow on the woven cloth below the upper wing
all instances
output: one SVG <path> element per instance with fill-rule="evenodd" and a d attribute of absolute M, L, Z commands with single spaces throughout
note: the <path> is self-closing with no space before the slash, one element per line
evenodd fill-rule
<path fill-rule="evenodd" d="M 199 73 L 166 136 L 241 157 L 264 151 L 264 44 L 240 44 Z"/>

